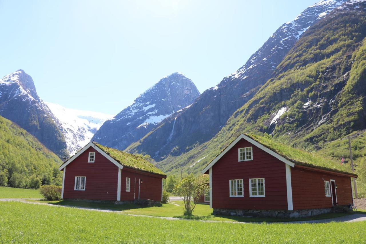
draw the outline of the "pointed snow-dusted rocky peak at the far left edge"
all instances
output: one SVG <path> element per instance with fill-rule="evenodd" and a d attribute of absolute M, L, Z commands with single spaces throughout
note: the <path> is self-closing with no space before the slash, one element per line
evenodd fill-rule
<path fill-rule="evenodd" d="M 0 115 L 17 123 L 60 158 L 68 158 L 66 141 L 56 118 L 38 97 L 33 79 L 23 70 L 0 80 Z"/>

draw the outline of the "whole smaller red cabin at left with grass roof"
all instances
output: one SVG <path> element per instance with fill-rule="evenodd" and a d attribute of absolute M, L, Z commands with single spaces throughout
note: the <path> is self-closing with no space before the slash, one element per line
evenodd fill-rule
<path fill-rule="evenodd" d="M 160 202 L 166 175 L 140 156 L 89 143 L 63 163 L 63 199 Z"/>

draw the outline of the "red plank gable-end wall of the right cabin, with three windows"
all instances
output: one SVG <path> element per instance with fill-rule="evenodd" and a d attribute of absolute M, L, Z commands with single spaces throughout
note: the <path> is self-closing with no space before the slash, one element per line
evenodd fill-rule
<path fill-rule="evenodd" d="M 253 147 L 253 160 L 238 162 L 238 148 Z M 249 179 L 265 178 L 265 197 L 249 197 Z M 244 197 L 229 197 L 229 180 L 243 179 Z M 285 163 L 242 139 L 212 167 L 212 207 L 287 210 Z"/>

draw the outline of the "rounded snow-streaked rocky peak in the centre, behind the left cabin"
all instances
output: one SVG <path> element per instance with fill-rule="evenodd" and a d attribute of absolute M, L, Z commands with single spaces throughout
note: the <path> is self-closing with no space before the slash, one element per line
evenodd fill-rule
<path fill-rule="evenodd" d="M 149 133 L 163 119 L 192 104 L 199 95 L 194 83 L 184 74 L 170 74 L 106 121 L 92 140 L 123 150 Z"/>

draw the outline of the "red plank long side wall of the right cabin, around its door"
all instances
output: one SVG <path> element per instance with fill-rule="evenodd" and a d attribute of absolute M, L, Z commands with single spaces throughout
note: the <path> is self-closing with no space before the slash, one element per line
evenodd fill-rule
<path fill-rule="evenodd" d="M 332 207 L 332 197 L 325 196 L 324 181 L 335 180 L 338 205 L 352 204 L 350 177 L 314 170 L 291 168 L 294 210 Z"/>

